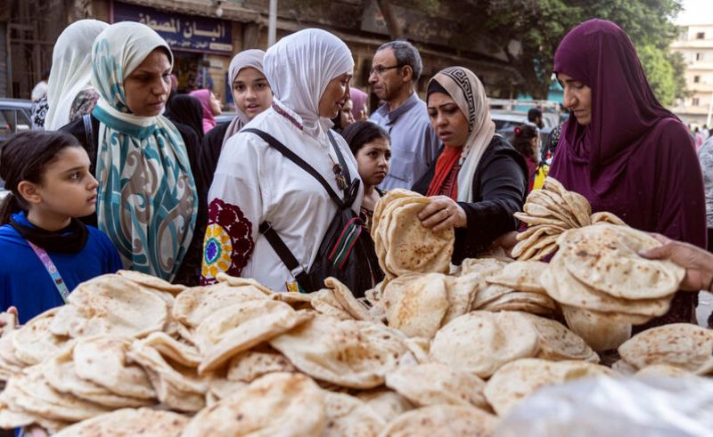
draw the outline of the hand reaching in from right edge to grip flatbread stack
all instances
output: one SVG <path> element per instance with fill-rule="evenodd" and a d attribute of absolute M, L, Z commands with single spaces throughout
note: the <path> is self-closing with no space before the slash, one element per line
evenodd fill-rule
<path fill-rule="evenodd" d="M 685 269 L 681 289 L 687 291 L 709 290 L 713 282 L 713 254 L 681 241 L 652 234 L 663 246 L 643 251 L 639 255 L 652 260 L 669 260 Z"/>

